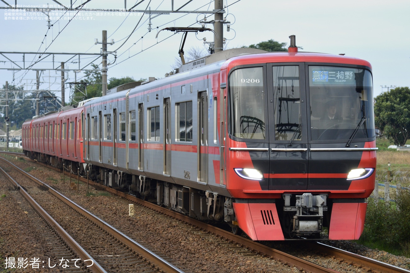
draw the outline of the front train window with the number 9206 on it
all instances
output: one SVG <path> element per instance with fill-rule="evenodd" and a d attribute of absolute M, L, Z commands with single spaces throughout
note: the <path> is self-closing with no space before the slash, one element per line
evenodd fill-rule
<path fill-rule="evenodd" d="M 266 92 L 262 67 L 239 68 L 229 76 L 230 134 L 266 138 Z"/>

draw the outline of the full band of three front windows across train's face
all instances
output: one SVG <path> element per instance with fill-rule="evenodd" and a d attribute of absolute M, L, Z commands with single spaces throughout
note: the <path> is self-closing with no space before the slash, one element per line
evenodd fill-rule
<path fill-rule="evenodd" d="M 364 68 L 238 68 L 230 74 L 229 87 L 230 134 L 235 140 L 274 138 L 295 145 L 298 141 L 347 143 L 374 138 L 372 78 Z M 268 134 L 268 120 L 274 137 Z"/>

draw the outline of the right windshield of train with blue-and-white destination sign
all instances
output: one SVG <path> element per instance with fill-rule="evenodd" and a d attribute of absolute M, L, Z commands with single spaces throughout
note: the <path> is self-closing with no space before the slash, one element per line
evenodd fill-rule
<path fill-rule="evenodd" d="M 309 66 L 311 140 L 374 137 L 373 86 L 368 70 Z"/>

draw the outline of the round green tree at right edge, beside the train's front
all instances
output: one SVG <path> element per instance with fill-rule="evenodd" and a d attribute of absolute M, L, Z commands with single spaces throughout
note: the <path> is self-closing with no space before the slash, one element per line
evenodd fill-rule
<path fill-rule="evenodd" d="M 403 146 L 410 138 L 410 89 L 397 87 L 378 95 L 374 114 L 376 127 L 383 135 Z"/>

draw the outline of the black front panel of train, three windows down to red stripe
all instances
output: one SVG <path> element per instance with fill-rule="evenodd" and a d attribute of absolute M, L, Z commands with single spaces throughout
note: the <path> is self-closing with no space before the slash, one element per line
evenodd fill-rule
<path fill-rule="evenodd" d="M 369 70 L 307 63 L 244 66 L 232 70 L 228 86 L 230 138 L 252 151 L 253 168 L 264 174 L 262 190 L 349 188 L 347 174 L 363 163 L 360 148 L 375 140 Z M 234 168 L 240 164 L 249 162 L 236 160 Z"/>

